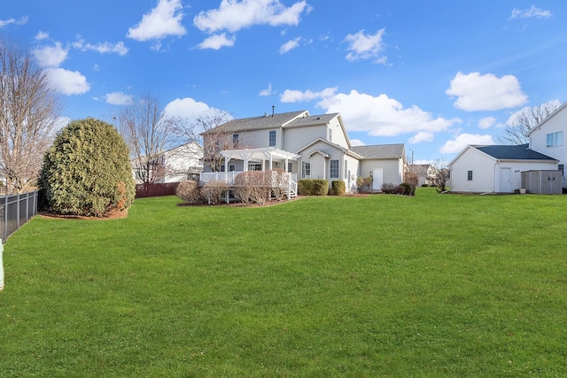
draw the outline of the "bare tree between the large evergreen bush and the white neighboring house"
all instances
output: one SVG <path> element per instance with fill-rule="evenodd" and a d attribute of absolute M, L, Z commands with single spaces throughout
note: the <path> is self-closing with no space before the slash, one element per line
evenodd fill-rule
<path fill-rule="evenodd" d="M 150 184 L 165 179 L 164 152 L 172 142 L 174 125 L 175 119 L 151 95 L 132 101 L 120 112 L 118 129 L 128 144 L 136 181 Z"/>

